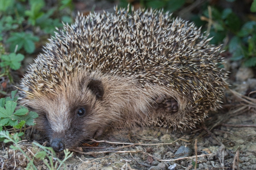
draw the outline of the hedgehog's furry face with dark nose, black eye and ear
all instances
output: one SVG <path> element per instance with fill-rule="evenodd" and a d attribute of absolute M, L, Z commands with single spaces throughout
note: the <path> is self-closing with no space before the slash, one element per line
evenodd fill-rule
<path fill-rule="evenodd" d="M 92 138 L 106 125 L 103 120 L 106 109 L 101 106 L 103 96 L 102 82 L 85 77 L 54 95 L 36 97 L 27 105 L 39 114 L 37 129 L 49 137 L 55 152 L 61 152 Z"/>

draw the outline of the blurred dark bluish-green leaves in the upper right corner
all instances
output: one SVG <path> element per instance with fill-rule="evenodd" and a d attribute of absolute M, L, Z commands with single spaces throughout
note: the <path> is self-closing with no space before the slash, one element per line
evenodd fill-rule
<path fill-rule="evenodd" d="M 230 2 L 235 0 L 230 0 Z M 251 11 L 256 10 L 252 3 Z M 204 17 L 205 16 L 205 17 Z M 245 67 L 256 66 L 256 22 L 247 21 L 244 24 L 243 21 L 232 11 L 230 8 L 223 10 L 215 7 L 208 7 L 204 11 L 202 20 L 208 21 L 208 28 L 206 33 L 209 33 L 209 37 L 213 37 L 212 44 L 223 43 L 224 38 L 230 37 L 228 51 L 232 54 L 230 60 L 242 60 Z M 228 39 L 227 39 L 228 40 Z"/>

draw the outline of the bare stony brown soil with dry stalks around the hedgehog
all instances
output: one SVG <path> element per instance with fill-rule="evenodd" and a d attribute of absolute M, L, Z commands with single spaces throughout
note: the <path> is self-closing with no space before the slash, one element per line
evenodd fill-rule
<path fill-rule="evenodd" d="M 88 1 L 88 4 L 84 4 L 85 13 L 91 11 L 93 3 L 96 4 L 95 11 L 109 9 L 113 6 L 107 1 L 100 1 L 101 4 L 98 1 L 91 3 Z M 81 4 L 78 6 L 81 7 Z M 27 58 L 25 62 L 28 60 L 31 62 L 31 58 Z M 230 89 L 234 91 L 227 90 L 222 109 L 210 113 L 205 122 L 198 124 L 195 129 L 174 131 L 172 128 L 159 127 L 137 127 L 131 130 L 108 128 L 96 140 L 110 143 L 99 142 L 98 146 L 91 149 L 88 149 L 88 146 L 87 148 L 74 148 L 73 151 L 76 152 L 61 169 L 189 170 L 194 169 L 196 159 L 198 170 L 231 170 L 238 169 L 237 165 L 239 169 L 256 169 L 256 100 L 254 99 L 256 96 L 254 93 L 250 94 L 256 90 L 255 70 L 243 68 L 240 65 L 239 62 L 230 62 L 227 59 L 225 68 L 230 71 L 228 81 L 231 85 Z M 6 89 L 10 92 L 15 88 L 13 85 L 7 85 Z M 249 97 L 246 97 L 248 95 Z M 19 145 L 31 158 L 33 157 L 31 152 L 36 153 L 39 150 L 32 147 L 31 141 L 43 143 L 47 140 L 34 128 L 27 130 L 26 139 L 28 141 L 21 142 Z M 90 145 L 93 143 L 88 142 Z M 179 148 L 186 148 L 186 152 L 176 153 Z M 28 149 L 31 152 L 28 152 Z M 0 167 L 13 169 L 16 163 L 16 169 L 25 169 L 28 161 L 24 155 L 16 151 L 14 162 L 13 153 L 9 144 L 2 143 Z M 200 155 L 206 156 L 200 157 Z M 58 156 L 60 159 L 63 158 L 61 154 Z M 187 159 L 170 160 L 190 156 L 191 158 Z M 235 161 L 234 158 L 236 158 Z M 38 169 L 48 169 L 43 161 L 35 161 L 35 165 Z"/>

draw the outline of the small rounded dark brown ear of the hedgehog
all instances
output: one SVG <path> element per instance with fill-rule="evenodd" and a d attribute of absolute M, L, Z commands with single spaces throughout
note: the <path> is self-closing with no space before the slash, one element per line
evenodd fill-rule
<path fill-rule="evenodd" d="M 87 87 L 92 90 L 94 95 L 96 96 L 97 99 L 100 99 L 103 97 L 104 94 L 104 88 L 101 80 L 97 79 L 90 79 Z"/>

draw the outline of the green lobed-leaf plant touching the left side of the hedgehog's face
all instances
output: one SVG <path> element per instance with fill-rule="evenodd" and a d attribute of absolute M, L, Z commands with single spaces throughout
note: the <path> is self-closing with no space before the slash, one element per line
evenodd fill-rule
<path fill-rule="evenodd" d="M 0 130 L 3 130 L 5 126 L 12 126 L 14 132 L 17 129 L 20 129 L 18 136 L 22 136 L 25 133 L 22 132 L 22 127 L 25 125 L 31 126 L 34 125 L 34 119 L 38 117 L 38 114 L 33 111 L 28 111 L 27 108 L 20 106 L 20 109 L 16 109 L 18 97 L 15 97 L 16 91 L 12 91 L 12 98 L 6 97 L 0 99 Z M 5 127 L 6 129 L 6 127 Z"/>

